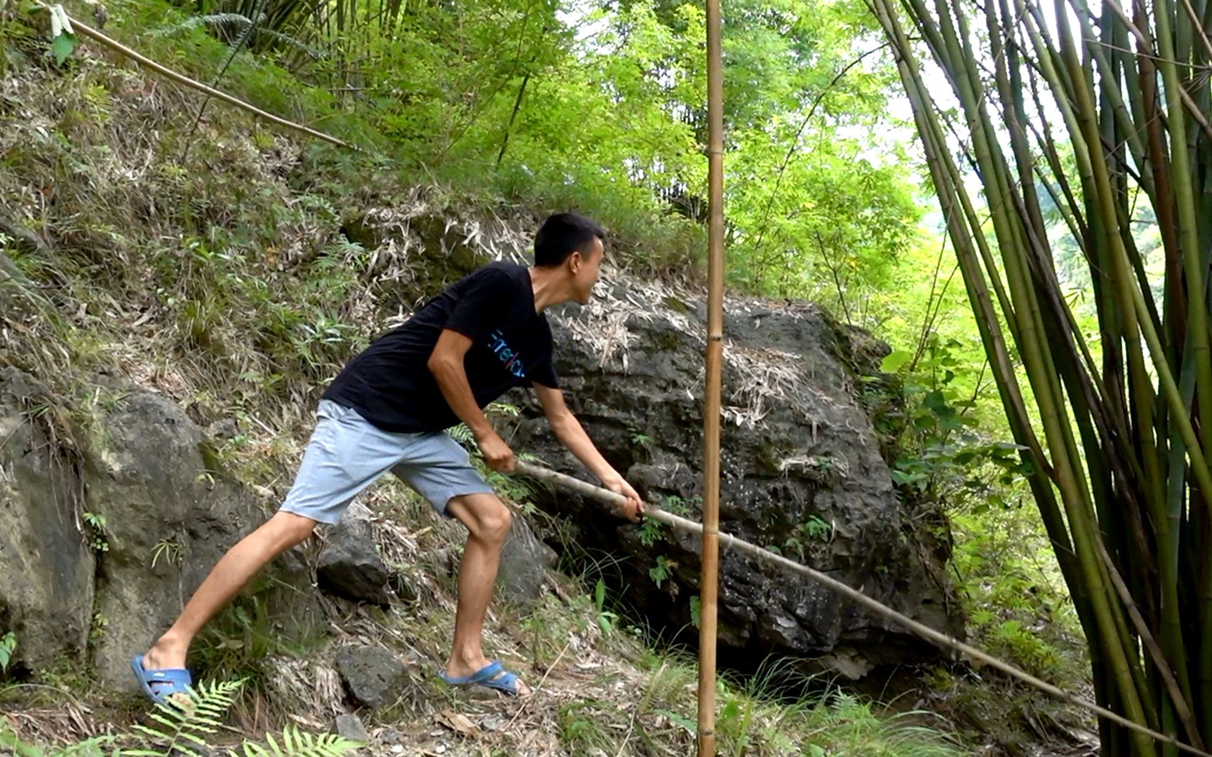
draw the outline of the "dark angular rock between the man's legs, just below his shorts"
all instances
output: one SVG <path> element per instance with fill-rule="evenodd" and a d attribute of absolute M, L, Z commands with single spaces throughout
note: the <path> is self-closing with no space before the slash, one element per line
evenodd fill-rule
<path fill-rule="evenodd" d="M 320 587 L 359 602 L 387 604 L 390 573 L 375 550 L 370 518 L 350 509 L 328 532 L 316 562 Z"/>

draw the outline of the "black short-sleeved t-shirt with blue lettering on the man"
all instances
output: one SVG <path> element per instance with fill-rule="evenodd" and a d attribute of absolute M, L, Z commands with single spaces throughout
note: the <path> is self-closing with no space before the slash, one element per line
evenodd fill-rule
<path fill-rule="evenodd" d="M 491 263 L 425 303 L 376 339 L 333 379 L 324 398 L 351 407 L 384 431 L 440 431 L 459 423 L 428 361 L 444 328 L 471 339 L 463 367 L 482 408 L 514 386 L 559 388 L 551 328 L 534 312 L 530 270 Z"/>

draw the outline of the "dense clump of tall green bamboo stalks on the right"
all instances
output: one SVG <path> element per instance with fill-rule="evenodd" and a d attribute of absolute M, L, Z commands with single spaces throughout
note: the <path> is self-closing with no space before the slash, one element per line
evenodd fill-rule
<path fill-rule="evenodd" d="M 1088 640 L 1097 698 L 1206 747 L 1212 4 L 928 2 L 869 0 Z M 926 65 L 949 92 L 930 91 Z M 1088 264 L 1097 329 L 1081 328 L 1064 296 L 1052 208 Z M 1136 233 L 1147 211 L 1160 273 L 1147 270 L 1159 266 Z M 1102 736 L 1104 755 L 1176 752 L 1109 723 Z"/>

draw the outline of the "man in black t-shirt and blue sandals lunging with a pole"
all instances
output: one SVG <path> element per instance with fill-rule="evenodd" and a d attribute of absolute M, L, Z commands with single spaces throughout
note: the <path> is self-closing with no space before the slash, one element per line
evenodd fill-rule
<path fill-rule="evenodd" d="M 336 523 L 349 501 L 389 470 L 439 514 L 468 528 L 454 641 L 442 678 L 511 695 L 528 693 L 481 649 L 510 512 L 444 429 L 462 420 L 487 465 L 511 471 L 514 453 L 482 408 L 513 386 L 533 386 L 556 437 L 607 488 L 627 498 L 628 517 L 638 517 L 642 505 L 635 489 L 564 403 L 543 315 L 553 305 L 589 302 L 602 236 L 587 218 L 551 216 L 534 237 L 533 268 L 492 263 L 474 271 L 350 361 L 324 392 L 319 423 L 281 510 L 219 560 L 172 627 L 131 661 L 149 698 L 171 701 L 183 695 L 190 684 L 185 655 L 207 620 L 265 563 L 311 535 L 316 523 Z"/>

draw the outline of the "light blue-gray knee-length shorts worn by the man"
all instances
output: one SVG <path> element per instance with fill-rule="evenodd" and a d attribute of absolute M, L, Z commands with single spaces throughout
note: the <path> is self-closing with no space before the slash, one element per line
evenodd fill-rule
<path fill-rule="evenodd" d="M 320 420 L 282 510 L 321 523 L 341 520 L 349 501 L 387 471 L 441 515 L 462 494 L 491 494 L 470 455 L 445 431 L 394 434 L 348 407 L 320 401 Z"/>

